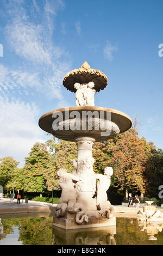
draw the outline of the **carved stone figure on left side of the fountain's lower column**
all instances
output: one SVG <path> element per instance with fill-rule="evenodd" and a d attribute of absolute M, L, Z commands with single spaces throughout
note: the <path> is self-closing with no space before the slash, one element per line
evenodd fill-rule
<path fill-rule="evenodd" d="M 73 181 L 79 181 L 79 178 L 77 175 L 67 173 L 67 170 L 64 168 L 59 169 L 57 174 L 59 176 L 58 185 L 62 189 L 55 213 L 55 215 L 59 217 L 64 216 L 66 211 L 71 213 L 76 212 L 77 209 L 74 209 L 74 205 L 76 204 L 77 194 Z"/>

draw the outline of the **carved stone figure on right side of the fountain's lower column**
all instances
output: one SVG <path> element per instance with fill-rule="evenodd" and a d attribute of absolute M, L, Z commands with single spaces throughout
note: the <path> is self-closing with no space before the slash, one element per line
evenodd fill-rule
<path fill-rule="evenodd" d="M 112 167 L 106 167 L 104 169 L 104 175 L 96 174 L 96 179 L 98 179 L 96 205 L 99 213 L 107 218 L 112 217 L 112 212 L 114 211 L 114 207 L 108 201 L 108 196 L 106 193 L 110 187 L 110 179 L 112 174 Z"/>

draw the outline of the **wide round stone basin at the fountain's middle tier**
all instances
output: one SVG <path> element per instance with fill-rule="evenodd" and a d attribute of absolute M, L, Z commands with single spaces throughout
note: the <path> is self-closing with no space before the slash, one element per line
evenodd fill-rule
<path fill-rule="evenodd" d="M 82 128 L 83 116 L 88 113 L 96 113 L 95 117 L 92 118 L 92 124 L 90 125 L 90 118 L 86 118 L 86 129 Z M 58 130 L 53 129 L 54 121 L 57 121 L 59 117 L 57 113 L 62 115 L 62 120 L 59 120 Z M 74 116 L 77 113 L 77 116 Z M 54 117 L 55 115 L 55 117 Z M 109 120 L 108 117 L 110 117 Z M 66 123 L 80 125 L 80 130 L 65 129 Z M 99 124 L 99 125 L 98 125 Z M 115 109 L 105 108 L 105 107 L 69 107 L 69 108 L 59 108 L 54 111 L 48 112 L 39 119 L 39 126 L 42 130 L 52 133 L 55 137 L 59 139 L 64 139 L 65 141 L 75 141 L 78 137 L 92 137 L 96 141 L 106 141 L 108 139 L 114 138 L 118 133 L 127 131 L 130 129 L 132 121 L 130 117 Z M 98 126 L 98 127 L 97 127 Z M 104 133 L 104 127 L 109 127 L 110 132 Z M 107 128 L 108 129 L 108 128 Z M 109 130 L 108 129 L 108 130 Z"/>

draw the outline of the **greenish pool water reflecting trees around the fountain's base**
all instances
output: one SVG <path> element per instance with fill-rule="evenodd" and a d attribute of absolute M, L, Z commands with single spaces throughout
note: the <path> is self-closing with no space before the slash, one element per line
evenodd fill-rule
<path fill-rule="evenodd" d="M 163 245 L 163 224 L 143 225 L 136 218 L 116 217 L 116 227 L 64 231 L 52 216 L 1 216 L 0 245 Z"/>

